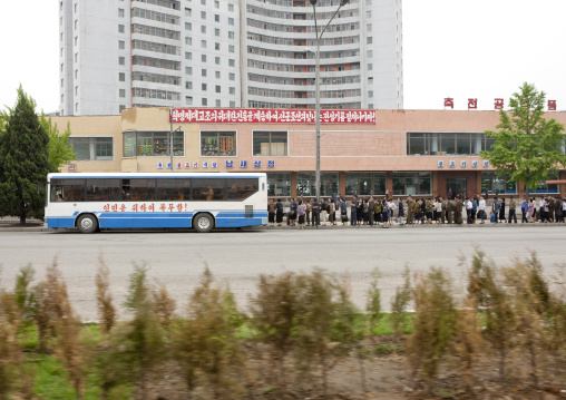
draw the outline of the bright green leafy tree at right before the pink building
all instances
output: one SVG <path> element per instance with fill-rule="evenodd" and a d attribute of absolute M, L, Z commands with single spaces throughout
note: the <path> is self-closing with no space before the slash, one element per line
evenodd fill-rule
<path fill-rule="evenodd" d="M 491 163 L 498 175 L 521 182 L 528 193 L 556 173 L 560 164 L 566 165 L 560 148 L 566 135 L 564 125 L 544 117 L 544 91 L 527 82 L 519 90 L 509 99 L 510 110 L 499 111 L 499 131 L 486 131 L 496 142 L 491 152 L 480 152 L 480 156 Z"/>

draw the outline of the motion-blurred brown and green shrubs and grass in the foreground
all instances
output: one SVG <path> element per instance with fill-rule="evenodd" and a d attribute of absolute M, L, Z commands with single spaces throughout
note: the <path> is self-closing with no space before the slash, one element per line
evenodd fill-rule
<path fill-rule="evenodd" d="M 406 359 L 411 397 L 485 398 L 518 386 L 559 393 L 566 377 L 549 371 L 566 364 L 564 281 L 550 285 L 534 253 L 498 267 L 476 251 L 460 264 L 465 293 L 441 269 L 406 267 L 388 313 L 379 270 L 364 310 L 352 304 L 348 277 L 313 270 L 260 275 L 244 313 L 208 269 L 179 311 L 135 265 L 124 303 L 131 318 L 119 321 L 100 260 L 97 324 L 77 318 L 56 261 L 39 283 L 26 266 L 0 292 L 0 399 L 344 398 L 329 375 L 347 359 L 359 397 L 371 397 L 368 365 L 390 353 Z M 164 375 L 182 393 L 169 396 Z"/>

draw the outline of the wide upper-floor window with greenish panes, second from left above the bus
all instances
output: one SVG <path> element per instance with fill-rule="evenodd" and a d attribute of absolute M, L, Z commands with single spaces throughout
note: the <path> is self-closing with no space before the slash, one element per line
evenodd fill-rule
<path fill-rule="evenodd" d="M 173 155 L 185 155 L 184 131 L 173 133 Z M 170 133 L 163 131 L 125 131 L 124 157 L 149 157 L 170 155 Z"/>

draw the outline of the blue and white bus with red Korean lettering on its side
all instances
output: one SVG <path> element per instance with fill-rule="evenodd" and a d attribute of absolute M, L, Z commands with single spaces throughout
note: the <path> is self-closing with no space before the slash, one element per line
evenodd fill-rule
<path fill-rule="evenodd" d="M 49 174 L 45 226 L 81 233 L 267 224 L 266 174 Z"/>

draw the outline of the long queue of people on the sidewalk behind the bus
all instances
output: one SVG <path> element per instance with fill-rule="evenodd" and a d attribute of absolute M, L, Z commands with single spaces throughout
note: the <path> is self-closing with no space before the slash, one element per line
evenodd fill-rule
<path fill-rule="evenodd" d="M 498 198 L 496 196 L 490 206 L 487 206 L 484 196 L 466 197 L 453 196 L 445 198 L 413 199 L 408 196 L 401 198 L 374 196 L 361 198 L 357 195 L 351 199 L 333 195 L 331 198 L 290 198 L 273 199 L 267 203 L 269 225 L 304 226 L 342 225 L 351 226 L 382 226 L 390 227 L 393 223 L 404 224 L 485 224 L 515 223 L 517 224 L 517 199 L 514 196 Z M 537 207 L 538 206 L 538 207 Z M 541 197 L 524 198 L 520 204 L 521 223 L 563 223 L 566 216 L 566 198 Z M 284 222 L 285 219 L 285 222 Z"/>

